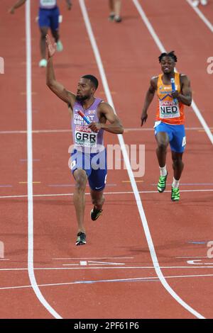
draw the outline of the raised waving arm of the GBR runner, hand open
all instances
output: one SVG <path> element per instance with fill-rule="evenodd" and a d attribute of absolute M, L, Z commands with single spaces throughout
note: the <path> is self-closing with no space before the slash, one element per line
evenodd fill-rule
<path fill-rule="evenodd" d="M 71 107 L 75 104 L 76 96 L 70 91 L 66 90 L 65 87 L 55 79 L 55 72 L 53 69 L 53 55 L 55 55 L 56 44 L 52 45 L 50 38 L 46 35 L 46 45 L 48 47 L 48 65 L 46 70 L 46 84 L 57 95 L 62 101 L 70 105 Z"/>

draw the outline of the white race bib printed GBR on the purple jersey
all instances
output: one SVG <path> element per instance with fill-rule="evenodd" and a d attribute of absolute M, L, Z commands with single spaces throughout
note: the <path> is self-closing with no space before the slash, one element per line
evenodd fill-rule
<path fill-rule="evenodd" d="M 97 147 L 97 133 L 92 132 L 89 128 L 77 126 L 75 128 L 75 145 L 81 147 Z"/>

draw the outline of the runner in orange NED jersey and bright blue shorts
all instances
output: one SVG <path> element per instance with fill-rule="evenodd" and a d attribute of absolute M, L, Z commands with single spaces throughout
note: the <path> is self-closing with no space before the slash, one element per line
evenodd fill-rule
<path fill-rule="evenodd" d="M 172 201 L 179 201 L 179 183 L 183 169 L 182 154 L 186 145 L 184 106 L 191 105 L 192 90 L 188 77 L 175 72 L 175 64 L 178 59 L 174 51 L 162 53 L 158 59 L 163 74 L 159 74 L 158 77 L 151 79 L 141 114 L 141 126 L 143 123 L 146 123 L 148 107 L 153 101 L 156 91 L 158 95 L 158 108 L 154 129 L 155 139 L 158 144 L 156 154 L 160 167 L 158 192 L 162 193 L 165 190 L 168 177 L 166 153 L 167 147 L 170 144 L 174 170 L 171 199 Z M 171 86 L 171 79 L 175 79 L 175 92 L 173 92 Z M 175 100 L 178 100 L 178 103 Z"/>

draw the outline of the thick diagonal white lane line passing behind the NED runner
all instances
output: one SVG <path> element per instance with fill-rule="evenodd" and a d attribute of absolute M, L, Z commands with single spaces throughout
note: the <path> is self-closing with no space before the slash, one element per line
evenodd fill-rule
<path fill-rule="evenodd" d="M 132 0 L 133 4 L 136 6 L 136 9 L 138 10 L 138 13 L 140 14 L 143 22 L 146 24 L 146 28 L 148 28 L 148 31 L 151 33 L 151 36 L 153 40 L 155 40 L 155 43 L 158 45 L 158 48 L 160 52 L 166 52 L 165 47 L 160 41 L 160 38 L 155 33 L 155 30 L 153 29 L 153 26 L 151 25 L 150 21 L 148 21 L 148 18 L 146 16 L 146 13 L 143 11 L 141 4 L 139 4 L 138 0 Z M 211 130 L 209 129 L 209 126 L 207 125 L 206 121 L 204 120 L 202 114 L 200 113 L 199 108 L 195 104 L 195 101 L 192 100 L 192 109 L 195 112 L 195 115 L 197 115 L 197 118 L 200 120 L 200 123 L 202 127 L 204 128 L 204 131 L 206 132 L 207 136 L 209 137 L 209 140 L 212 142 L 213 145 L 213 135 Z"/>

